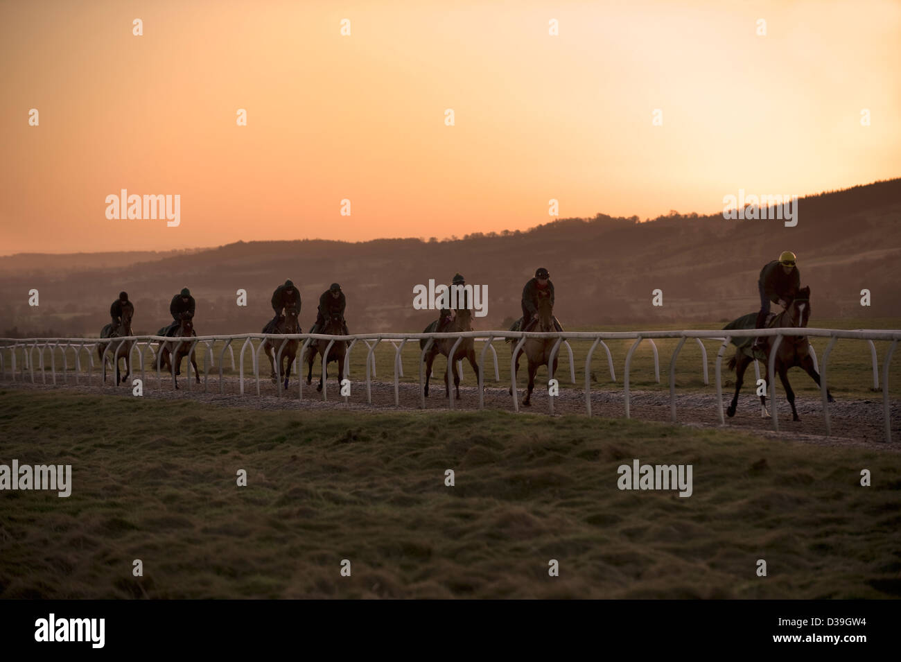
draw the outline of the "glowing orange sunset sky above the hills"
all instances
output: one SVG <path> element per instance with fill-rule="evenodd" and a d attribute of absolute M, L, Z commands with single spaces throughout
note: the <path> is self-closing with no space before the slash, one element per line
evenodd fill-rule
<path fill-rule="evenodd" d="M 898 2 L 5 0 L 0 52 L 3 255 L 462 237 L 551 198 L 643 219 L 901 175 Z M 180 225 L 108 220 L 122 188 L 180 195 Z"/>

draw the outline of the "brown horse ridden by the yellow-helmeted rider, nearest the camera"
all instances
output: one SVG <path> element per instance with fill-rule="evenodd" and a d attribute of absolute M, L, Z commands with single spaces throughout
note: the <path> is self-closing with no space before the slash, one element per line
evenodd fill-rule
<path fill-rule="evenodd" d="M 757 313 L 749 313 L 730 322 L 724 329 L 753 329 L 756 317 Z M 807 321 L 809 319 L 810 287 L 802 287 L 798 290 L 796 298 L 794 298 L 781 313 L 775 315 L 768 326 L 771 328 L 781 327 L 802 329 L 807 326 Z M 752 360 L 760 358 L 760 356 L 755 357 L 753 355 L 748 340 L 745 340 L 743 343 L 738 343 L 733 340 L 733 343 L 736 345 L 735 356 L 729 359 L 729 369 L 735 370 L 735 395 L 733 396 L 732 404 L 730 404 L 729 408 L 726 410 L 726 413 L 730 418 L 735 415 L 735 407 L 738 404 L 738 394 L 742 390 L 744 371 L 751 364 Z M 761 340 L 765 343 L 763 345 L 762 360 L 764 361 L 764 365 L 769 366 L 769 355 L 772 351 L 773 343 L 776 341 L 776 336 L 767 336 Z M 808 375 L 814 378 L 816 385 L 820 385 L 820 374 L 814 367 L 814 358 L 810 356 L 810 346 L 806 336 L 783 336 L 782 341 L 779 342 L 775 366 L 773 368 L 774 373 L 778 373 L 779 379 L 782 381 L 782 387 L 786 390 L 788 404 L 791 404 L 792 420 L 800 421 L 801 419 L 798 418 L 797 410 L 795 408 L 795 392 L 792 391 L 791 385 L 788 383 L 788 368 L 790 367 L 800 367 L 804 369 Z M 826 390 L 826 396 L 828 397 L 829 402 L 835 402 L 833 394 L 829 393 L 828 389 Z M 767 412 L 766 395 L 760 395 L 760 410 L 761 418 L 767 418 L 769 416 L 769 413 Z"/>

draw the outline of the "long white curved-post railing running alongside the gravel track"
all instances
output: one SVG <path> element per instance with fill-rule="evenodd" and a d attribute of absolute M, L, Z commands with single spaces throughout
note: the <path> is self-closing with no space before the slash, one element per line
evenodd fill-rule
<path fill-rule="evenodd" d="M 371 380 L 372 377 L 375 376 L 375 356 L 374 351 L 378 344 L 382 340 L 387 340 L 392 343 L 395 348 L 395 361 L 394 361 L 394 387 L 395 387 L 395 404 L 400 404 L 400 396 L 399 396 L 399 378 L 404 374 L 404 367 L 402 363 L 401 354 L 405 347 L 405 344 L 409 340 L 427 340 L 425 347 L 420 352 L 420 362 L 419 362 L 419 393 L 420 393 L 420 406 L 424 408 L 425 406 L 425 394 L 423 389 L 424 375 L 425 375 L 425 367 L 423 364 L 423 358 L 425 357 L 425 353 L 432 347 L 432 343 L 435 340 L 447 340 L 447 339 L 455 339 L 453 346 L 451 347 L 451 355 L 456 353 L 456 349 L 460 346 L 460 342 L 464 338 L 472 338 L 474 340 L 483 341 L 485 346 L 483 347 L 480 355 L 480 360 L 478 362 L 478 407 L 479 409 L 483 409 L 485 406 L 485 397 L 484 397 L 484 384 L 485 384 L 485 355 L 487 349 L 491 349 L 494 364 L 495 364 L 495 379 L 499 379 L 499 371 L 497 368 L 497 353 L 495 348 L 493 347 L 493 342 L 495 340 L 518 340 L 513 347 L 513 356 L 510 361 L 510 378 L 511 384 L 515 383 L 514 378 L 514 365 L 515 365 L 515 357 L 519 355 L 519 352 L 523 348 L 523 343 L 525 340 L 530 338 L 532 339 L 546 339 L 552 338 L 557 341 L 554 343 L 553 348 L 551 349 L 551 365 L 553 364 L 554 358 L 556 358 L 558 351 L 561 345 L 564 345 L 569 353 L 569 373 L 572 382 L 575 384 L 576 382 L 576 371 L 575 364 L 573 361 L 572 349 L 569 346 L 569 340 L 591 340 L 593 341 L 590 349 L 588 349 L 588 354 L 585 359 L 585 406 L 586 412 L 588 415 L 591 415 L 591 358 L 595 353 L 595 349 L 598 345 L 604 347 L 607 357 L 607 364 L 610 369 L 610 378 L 615 382 L 616 376 L 614 373 L 614 363 L 613 357 L 610 353 L 610 349 L 607 347 L 605 340 L 634 340 L 632 347 L 628 350 L 625 358 L 625 367 L 623 371 L 623 395 L 625 401 L 625 416 L 626 418 L 630 418 L 630 405 L 631 405 L 631 396 L 629 389 L 629 382 L 631 376 L 631 367 L 632 367 L 632 358 L 635 353 L 635 350 L 638 349 L 638 346 L 642 343 L 643 340 L 648 340 L 651 342 L 651 348 L 654 354 L 654 373 L 658 383 L 660 383 L 660 358 L 658 354 L 658 349 L 656 343 L 654 343 L 655 339 L 678 339 L 678 345 L 676 349 L 673 351 L 672 358 L 669 362 L 669 406 L 670 406 L 670 418 L 673 422 L 676 422 L 676 360 L 678 358 L 678 354 L 681 351 L 683 345 L 685 345 L 686 340 L 693 338 L 696 340 L 697 344 L 701 348 L 702 353 L 702 374 L 704 376 L 704 383 L 708 384 L 707 379 L 707 354 L 706 349 L 703 343 L 703 340 L 718 340 L 721 342 L 719 351 L 716 353 L 716 364 L 715 364 L 715 385 L 716 385 L 716 400 L 717 400 L 717 414 L 719 417 L 719 421 L 721 424 L 725 423 L 724 419 L 724 406 L 723 406 L 723 376 L 722 376 L 722 363 L 723 363 L 723 355 L 725 349 L 729 346 L 729 342 L 733 340 L 733 338 L 751 338 L 754 336 L 775 336 L 775 340 L 773 343 L 773 349 L 769 355 L 769 365 L 767 366 L 767 375 L 768 380 L 767 384 L 769 385 L 769 397 L 770 402 L 773 404 L 771 406 L 772 410 L 772 423 L 773 430 L 778 431 L 778 413 L 776 403 L 776 382 L 775 382 L 775 359 L 777 354 L 777 349 L 779 343 L 786 336 L 797 337 L 798 330 L 790 329 L 790 328 L 780 328 L 780 329 L 733 329 L 729 330 L 728 334 L 724 335 L 724 331 L 564 331 L 564 332 L 551 332 L 551 333 L 523 333 L 522 331 L 466 331 L 466 332 L 457 332 L 457 333 L 358 333 L 350 336 L 327 336 L 323 334 L 313 334 L 313 333 L 296 333 L 292 335 L 281 335 L 281 334 L 263 334 L 263 333 L 243 333 L 238 335 L 226 335 L 226 336 L 197 336 L 195 338 L 164 338 L 161 336 L 130 336 L 127 338 L 113 338 L 113 339 L 103 339 L 99 340 L 96 338 L 93 339 L 84 339 L 84 338 L 30 338 L 30 339 L 13 339 L 13 338 L 4 338 L 0 339 L 0 377 L 5 378 L 6 376 L 6 364 L 5 364 L 5 355 L 7 351 L 10 355 L 10 366 L 11 366 L 11 376 L 12 379 L 15 379 L 15 370 L 16 370 L 16 351 L 18 349 L 23 350 L 23 367 L 22 367 L 22 376 L 24 379 L 25 369 L 28 368 L 31 372 L 32 383 L 35 381 L 34 377 L 34 351 L 39 350 L 38 354 L 38 369 L 41 371 L 41 383 L 46 383 L 46 369 L 44 362 L 44 352 L 45 350 L 50 350 L 50 371 L 51 371 L 51 379 L 52 383 L 56 384 L 56 350 L 59 349 L 62 353 L 63 359 L 63 380 L 66 379 L 66 373 L 68 372 L 68 354 L 67 350 L 72 349 L 75 356 L 75 381 L 78 384 L 79 372 L 81 371 L 81 363 L 80 363 L 80 352 L 82 349 L 86 351 L 88 356 L 88 367 L 86 368 L 86 376 L 88 379 L 88 383 L 90 382 L 91 376 L 93 375 L 94 368 L 94 349 L 98 345 L 98 343 L 105 343 L 105 351 L 102 357 L 101 364 L 105 364 L 107 358 L 112 358 L 112 356 L 117 356 L 119 354 L 119 349 L 122 348 L 123 343 L 127 341 L 132 341 L 132 349 L 128 355 L 128 368 L 129 375 L 131 376 L 132 370 L 132 357 L 135 351 L 138 353 L 139 365 L 141 366 L 141 381 L 146 384 L 147 380 L 145 378 L 145 365 L 144 365 L 144 350 L 150 348 L 150 351 L 153 353 L 154 358 L 156 358 L 157 364 L 157 376 L 158 376 L 158 385 L 161 387 L 162 385 L 162 376 L 160 375 L 160 356 L 159 352 L 153 349 L 152 343 L 159 344 L 160 342 L 168 342 L 171 348 L 171 351 L 174 353 L 183 343 L 189 343 L 189 350 L 187 354 L 187 388 L 191 390 L 192 382 L 191 382 L 191 358 L 193 356 L 194 350 L 200 344 L 204 344 L 207 349 L 207 367 L 205 369 L 204 376 L 204 390 L 206 390 L 206 377 L 209 375 L 210 367 L 209 362 L 210 359 L 213 358 L 213 348 L 212 344 L 217 341 L 222 341 L 225 344 L 223 348 L 220 350 L 219 354 L 219 390 L 220 393 L 223 393 L 223 358 L 225 354 L 225 349 L 229 349 L 231 351 L 232 357 L 232 369 L 234 369 L 234 352 L 232 350 L 232 342 L 235 340 L 243 340 L 243 344 L 241 345 L 241 353 L 239 360 L 239 372 L 240 372 L 240 389 L 241 395 L 244 394 L 244 352 L 250 348 L 250 358 L 252 360 L 253 365 L 253 374 L 256 378 L 257 385 L 257 394 L 259 395 L 259 354 L 263 347 L 263 341 L 269 340 L 274 351 L 276 358 L 276 381 L 278 383 L 278 395 L 281 395 L 282 392 L 282 377 L 278 374 L 280 369 L 280 358 L 282 350 L 285 348 L 287 340 L 304 340 L 304 345 L 302 349 L 298 352 L 296 356 L 296 363 L 298 369 L 303 366 L 303 360 L 305 358 L 306 350 L 309 348 L 310 342 L 313 340 L 329 340 L 329 343 L 326 348 L 326 353 L 329 349 L 332 348 L 335 340 L 344 340 L 348 343 L 346 354 L 345 354 L 345 362 L 344 362 L 344 375 L 343 378 L 350 377 L 350 352 L 354 349 L 355 345 L 358 341 L 362 340 L 363 343 L 367 347 L 367 357 L 366 357 L 366 397 L 367 401 L 371 404 L 372 402 L 372 392 L 371 392 Z M 842 340 L 866 340 L 869 343 L 870 355 L 872 358 L 873 364 L 873 384 L 874 389 L 878 389 L 878 366 L 877 366 L 877 356 L 876 356 L 876 347 L 873 344 L 874 340 L 886 340 L 891 342 L 891 345 L 888 348 L 886 357 L 883 361 L 882 368 L 882 405 L 883 405 L 883 419 L 885 423 L 885 433 L 886 440 L 891 440 L 891 421 L 890 421 L 890 411 L 889 411 L 889 399 L 888 399 L 888 367 L 891 364 L 892 355 L 895 353 L 895 349 L 897 347 L 898 340 L 901 340 L 901 331 L 898 330 L 856 330 L 856 331 L 844 331 L 840 329 L 804 329 L 804 336 L 807 338 L 828 338 L 829 343 L 826 346 L 824 351 L 824 355 L 822 358 L 822 363 L 820 363 L 820 391 L 821 397 L 823 401 L 823 416 L 824 416 L 824 427 L 826 435 L 831 434 L 830 431 L 830 421 L 829 421 L 829 404 L 827 402 L 827 371 L 829 364 L 829 355 L 832 352 L 835 343 Z M 259 345 L 254 348 L 253 341 L 259 340 Z M 111 353 L 110 348 L 113 346 L 114 350 Z M 278 346 L 278 349 L 275 347 Z M 812 348 L 811 348 L 812 349 Z M 814 360 L 816 362 L 815 354 Z M 756 367 L 756 365 L 755 365 Z M 458 361 L 457 369 L 462 371 L 462 367 L 460 366 L 460 361 Z M 115 376 L 115 371 L 113 372 Z M 172 365 L 172 381 L 173 385 L 175 384 L 176 375 L 175 375 L 175 365 Z M 303 390 L 303 379 L 301 375 L 298 373 L 298 381 L 301 384 L 298 387 L 299 399 L 303 399 L 304 390 Z M 323 376 L 323 400 L 327 399 L 327 391 L 328 386 L 326 385 L 325 380 L 325 366 L 323 365 L 322 369 Z M 114 377 L 115 378 L 115 377 Z M 553 374 L 549 369 L 548 379 L 553 378 Z M 118 382 L 116 383 L 118 386 Z M 517 389 L 513 389 L 513 404 L 514 411 L 519 411 L 519 395 Z M 348 402 L 348 397 L 344 396 L 344 401 Z M 448 394 L 448 404 L 451 409 L 454 408 L 454 389 L 449 389 Z M 549 398 L 549 409 L 551 413 L 553 413 L 553 404 L 554 398 Z"/>

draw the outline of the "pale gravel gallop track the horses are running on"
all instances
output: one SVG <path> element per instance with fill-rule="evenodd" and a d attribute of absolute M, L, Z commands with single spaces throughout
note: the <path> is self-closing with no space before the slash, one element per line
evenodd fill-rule
<path fill-rule="evenodd" d="M 262 411 L 278 410 L 343 410 L 353 412 L 395 412 L 421 411 L 419 401 L 419 388 L 416 384 L 401 383 L 398 388 L 400 406 L 395 405 L 394 383 L 373 381 L 371 385 L 372 403 L 366 399 L 366 385 L 364 382 L 351 382 L 351 395 L 348 402 L 338 397 L 337 384 L 333 379 L 329 381 L 327 401 L 323 402 L 322 394 L 315 390 L 313 385 L 304 385 L 304 397 L 298 400 L 297 381 L 292 376 L 290 387 L 278 397 L 276 386 L 268 379 L 260 379 L 259 396 L 256 394 L 256 381 L 253 378 L 244 379 L 244 395 L 240 394 L 240 378 L 238 376 L 223 377 L 224 394 L 219 394 L 218 375 L 209 376 L 204 390 L 204 384 L 192 385 L 192 390 L 187 390 L 187 380 L 179 377 L 180 389 L 175 390 L 168 380 L 163 380 L 162 387 L 158 387 L 156 377 L 148 375 L 144 385 L 143 397 L 161 400 L 193 399 L 198 402 L 219 404 L 229 407 L 243 407 Z M 75 385 L 71 375 L 66 384 L 62 384 L 58 377 L 58 384 L 46 384 L 31 380 L 17 379 L 10 381 L 5 378 L 0 382 L 4 388 L 20 389 L 59 389 L 68 393 L 107 394 L 121 397 L 132 397 L 131 387 L 111 384 L 107 378 L 107 385 L 97 384 L 98 376 L 95 376 L 91 385 L 85 385 L 84 378 L 81 385 Z M 495 384 L 495 382 L 489 382 Z M 426 398 L 426 410 L 446 410 L 448 401 L 444 397 L 444 385 L 441 380 L 437 384 L 432 382 L 430 397 Z M 455 399 L 455 408 L 462 411 L 478 409 L 478 394 L 475 386 L 460 386 L 460 400 Z M 520 391 L 520 395 L 524 391 Z M 760 417 L 760 402 L 756 396 L 742 394 L 739 398 L 738 411 L 734 418 L 726 419 L 725 427 L 730 430 L 752 432 L 764 439 L 796 440 L 805 443 L 813 443 L 820 446 L 853 446 L 875 450 L 901 450 L 901 403 L 893 401 L 890 404 L 892 417 L 891 444 L 884 441 L 884 429 L 882 420 L 882 400 L 876 394 L 871 400 L 836 400 L 830 404 L 830 421 L 832 424 L 832 436 L 825 436 L 823 410 L 819 398 L 797 396 L 796 407 L 801 421 L 791 421 L 791 409 L 784 394 L 777 392 L 779 432 L 772 431 L 772 422 L 769 418 Z M 724 405 L 728 404 L 730 395 L 724 393 Z M 591 395 L 592 413 L 595 416 L 606 418 L 622 418 L 625 415 L 623 391 L 595 391 Z M 715 394 L 699 392 L 683 392 L 676 394 L 677 421 L 681 424 L 693 427 L 721 427 L 716 412 Z M 488 385 L 485 391 L 486 409 L 513 412 L 513 400 L 506 387 Z M 521 413 L 544 414 L 549 413 L 548 396 L 544 391 L 536 390 L 532 394 L 532 406 L 523 407 L 520 402 Z M 554 402 L 555 414 L 581 414 L 585 415 L 585 395 L 581 389 L 561 389 L 560 396 Z M 654 391 L 632 392 L 631 414 L 635 419 L 669 422 L 669 394 Z"/>

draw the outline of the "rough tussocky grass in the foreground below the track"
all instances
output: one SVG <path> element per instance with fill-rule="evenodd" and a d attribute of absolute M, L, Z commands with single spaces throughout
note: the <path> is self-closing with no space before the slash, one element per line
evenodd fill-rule
<path fill-rule="evenodd" d="M 891 451 L 6 390 L 0 464 L 14 458 L 71 464 L 73 488 L 0 492 L 0 598 L 901 596 Z M 620 491 L 633 458 L 693 465 L 694 494 Z"/>

